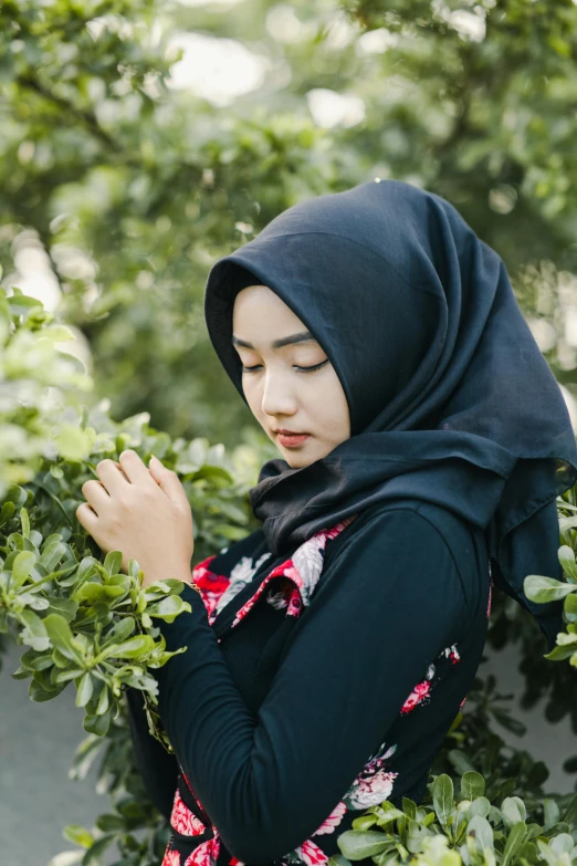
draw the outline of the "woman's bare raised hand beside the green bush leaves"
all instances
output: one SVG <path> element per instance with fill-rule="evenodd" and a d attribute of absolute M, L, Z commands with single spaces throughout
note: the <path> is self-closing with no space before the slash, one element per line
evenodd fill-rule
<path fill-rule="evenodd" d="M 105 553 L 122 551 L 125 574 L 135 559 L 143 586 L 167 577 L 190 581 L 192 512 L 178 476 L 155 458 L 147 469 L 132 449 L 119 460 L 101 460 L 99 481 L 82 486 L 86 502 L 76 509 L 78 522 Z"/>

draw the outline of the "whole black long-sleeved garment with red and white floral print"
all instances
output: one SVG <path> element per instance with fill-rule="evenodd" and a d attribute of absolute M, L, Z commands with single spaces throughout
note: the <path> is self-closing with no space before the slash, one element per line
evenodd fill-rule
<path fill-rule="evenodd" d="M 190 614 L 156 620 L 188 647 L 154 671 L 176 757 L 128 692 L 162 866 L 316 866 L 368 806 L 420 801 L 483 651 L 483 533 L 408 500 L 332 529 L 277 557 L 256 530 L 195 568 Z"/>

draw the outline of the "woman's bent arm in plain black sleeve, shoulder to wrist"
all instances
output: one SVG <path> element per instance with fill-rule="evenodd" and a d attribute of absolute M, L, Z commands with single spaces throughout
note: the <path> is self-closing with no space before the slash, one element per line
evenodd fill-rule
<path fill-rule="evenodd" d="M 155 671 L 159 713 L 228 849 L 255 864 L 318 828 L 474 615 L 439 531 L 412 510 L 384 512 L 327 566 L 255 721 L 198 594 L 182 597 L 192 613 L 160 625 L 167 649 L 188 649 Z"/>

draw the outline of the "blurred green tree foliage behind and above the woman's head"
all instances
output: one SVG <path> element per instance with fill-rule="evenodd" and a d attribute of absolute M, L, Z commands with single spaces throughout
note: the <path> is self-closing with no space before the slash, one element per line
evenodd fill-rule
<path fill-rule="evenodd" d="M 571 0 L 4 1 L 2 285 L 74 326 L 114 419 L 256 441 L 210 267 L 296 201 L 403 179 L 503 257 L 575 418 L 576 34 Z"/>

